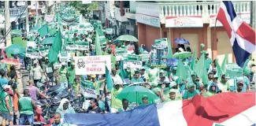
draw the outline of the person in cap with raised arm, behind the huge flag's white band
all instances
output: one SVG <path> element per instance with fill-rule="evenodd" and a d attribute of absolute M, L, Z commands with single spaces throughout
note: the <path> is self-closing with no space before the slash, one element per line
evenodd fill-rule
<path fill-rule="evenodd" d="M 165 89 L 165 84 L 161 84 L 161 101 L 169 102 L 169 101 L 182 100 L 182 98 L 176 97 L 176 90 L 175 89 L 170 89 L 169 97 L 165 97 L 164 89 Z"/>

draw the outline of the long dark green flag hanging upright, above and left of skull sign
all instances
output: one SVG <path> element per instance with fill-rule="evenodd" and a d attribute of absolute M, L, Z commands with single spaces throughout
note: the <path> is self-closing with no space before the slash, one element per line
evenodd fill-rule
<path fill-rule="evenodd" d="M 61 41 L 61 29 L 58 29 L 58 33 L 54 39 L 54 43 L 51 46 L 48 54 L 50 62 L 58 61 L 58 53 L 61 51 L 62 41 Z"/>

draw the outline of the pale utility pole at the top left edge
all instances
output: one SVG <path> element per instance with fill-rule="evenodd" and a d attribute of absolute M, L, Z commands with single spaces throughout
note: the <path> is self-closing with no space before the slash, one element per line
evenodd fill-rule
<path fill-rule="evenodd" d="M 6 18 L 6 46 L 12 45 L 12 38 L 11 38 L 11 24 L 9 22 L 9 1 L 5 1 L 5 18 Z"/>

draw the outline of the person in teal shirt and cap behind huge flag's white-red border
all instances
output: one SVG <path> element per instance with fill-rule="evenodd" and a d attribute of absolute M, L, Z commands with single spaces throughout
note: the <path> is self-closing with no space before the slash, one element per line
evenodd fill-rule
<path fill-rule="evenodd" d="M 186 82 L 186 84 L 187 84 L 187 82 Z M 183 99 L 191 99 L 195 95 L 200 95 L 200 93 L 197 90 L 195 90 L 194 83 L 188 83 L 187 88 L 188 88 L 187 91 L 184 92 Z"/>

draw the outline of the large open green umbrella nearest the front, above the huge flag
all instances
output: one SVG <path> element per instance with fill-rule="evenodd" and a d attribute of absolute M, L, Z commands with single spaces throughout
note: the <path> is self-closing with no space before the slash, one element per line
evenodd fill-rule
<path fill-rule="evenodd" d="M 147 95 L 149 102 L 154 102 L 154 99 L 158 98 L 158 96 L 155 95 L 153 91 L 150 91 L 143 86 L 125 87 L 124 90 L 121 91 L 119 95 L 117 95 L 117 98 L 121 100 L 126 98 L 129 102 L 142 103 L 142 98 L 144 95 Z"/>

